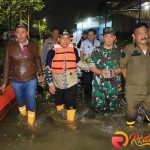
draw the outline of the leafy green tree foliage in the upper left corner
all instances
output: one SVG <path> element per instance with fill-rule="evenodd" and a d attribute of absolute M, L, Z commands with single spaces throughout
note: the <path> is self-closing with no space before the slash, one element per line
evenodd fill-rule
<path fill-rule="evenodd" d="M 0 0 L 0 24 L 11 30 L 18 23 L 30 26 L 31 14 L 45 7 L 42 0 Z"/>

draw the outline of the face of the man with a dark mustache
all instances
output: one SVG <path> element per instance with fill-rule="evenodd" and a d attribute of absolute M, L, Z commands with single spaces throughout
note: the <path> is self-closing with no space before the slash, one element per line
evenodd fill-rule
<path fill-rule="evenodd" d="M 142 26 L 135 30 L 132 34 L 133 40 L 139 45 L 147 44 L 148 40 L 148 30 L 146 27 Z"/>

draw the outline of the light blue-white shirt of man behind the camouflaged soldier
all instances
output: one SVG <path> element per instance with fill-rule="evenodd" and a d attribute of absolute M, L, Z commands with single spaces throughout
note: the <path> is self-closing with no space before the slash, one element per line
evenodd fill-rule
<path fill-rule="evenodd" d="M 98 46 L 100 46 L 99 40 L 95 39 L 93 42 L 90 42 L 87 39 L 81 43 L 80 51 L 82 51 L 86 57 L 90 57 L 93 50 Z"/>

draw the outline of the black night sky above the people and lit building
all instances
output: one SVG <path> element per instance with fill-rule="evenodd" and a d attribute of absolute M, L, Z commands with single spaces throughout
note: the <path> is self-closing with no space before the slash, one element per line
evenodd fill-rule
<path fill-rule="evenodd" d="M 102 1 L 107 0 L 44 0 L 42 17 L 47 18 L 50 28 L 72 29 L 75 18 L 99 15 Z"/>

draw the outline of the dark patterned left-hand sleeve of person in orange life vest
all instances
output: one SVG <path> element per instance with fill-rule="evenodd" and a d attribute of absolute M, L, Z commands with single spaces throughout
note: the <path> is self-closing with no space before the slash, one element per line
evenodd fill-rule
<path fill-rule="evenodd" d="M 48 86 L 53 85 L 53 79 L 52 79 L 52 72 L 51 72 L 51 65 L 52 65 L 52 60 L 54 58 L 55 51 L 50 50 L 47 54 L 46 58 L 46 67 L 45 67 L 45 82 Z"/>

